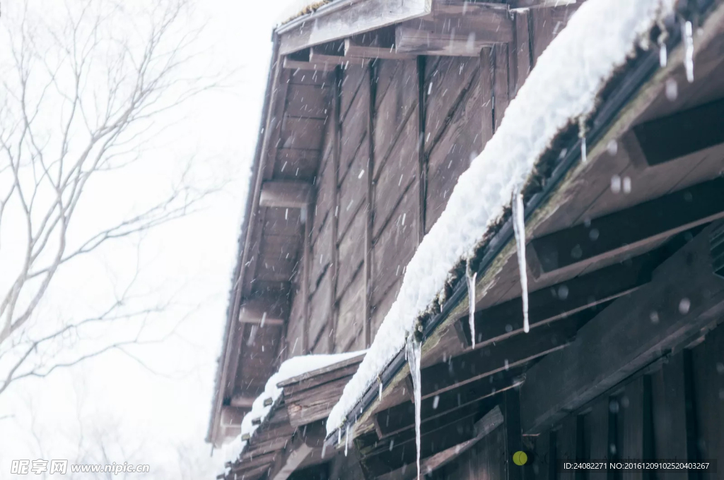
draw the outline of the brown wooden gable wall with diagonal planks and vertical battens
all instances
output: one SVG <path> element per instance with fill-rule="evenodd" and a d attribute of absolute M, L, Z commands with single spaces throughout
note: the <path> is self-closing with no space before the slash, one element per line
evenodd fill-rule
<path fill-rule="evenodd" d="M 318 112 L 326 123 L 309 239 L 308 345 L 298 272 L 285 356 L 374 340 L 458 177 L 576 6 L 515 13 L 513 42 L 479 57 L 376 60 L 329 74 L 330 111 Z"/>

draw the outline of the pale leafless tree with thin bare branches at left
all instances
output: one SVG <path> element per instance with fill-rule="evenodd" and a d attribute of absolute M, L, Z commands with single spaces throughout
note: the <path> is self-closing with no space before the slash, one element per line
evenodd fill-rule
<path fill-rule="evenodd" d="M 150 205 L 138 207 L 136 192 L 127 192 L 118 202 L 130 213 L 92 231 L 77 220 L 93 201 L 93 182 L 145 162 L 148 142 L 172 121 L 169 111 L 210 86 L 189 74 L 198 38 L 189 9 L 187 0 L 26 0 L 3 12 L 0 393 L 20 378 L 142 342 L 146 319 L 165 307 L 136 301 L 131 279 L 87 317 L 51 318 L 39 309 L 59 271 L 187 215 L 210 192 L 194 187 L 186 170 Z M 129 319 L 133 335 L 68 348 L 84 331 Z"/>

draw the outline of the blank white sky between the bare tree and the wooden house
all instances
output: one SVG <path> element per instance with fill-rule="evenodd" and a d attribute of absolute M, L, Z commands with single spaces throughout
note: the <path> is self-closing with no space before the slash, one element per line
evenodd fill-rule
<path fill-rule="evenodd" d="M 203 159 L 208 168 L 203 175 L 228 181 L 200 213 L 162 227 L 143 244 L 144 285 L 162 286 L 164 294 L 181 299 L 161 323 L 185 319 L 169 340 L 134 350 L 161 375 L 122 353 L 108 353 L 45 379 L 18 382 L 0 395 L 0 479 L 14 478 L 11 460 L 72 459 L 79 443 L 97 446 L 101 440 L 111 461 L 151 464 L 151 473 L 143 478 L 211 479 L 222 471 L 223 453 L 209 459 L 211 447 L 203 439 L 266 86 L 271 28 L 288 4 L 290 0 L 198 2 L 198 14 L 208 19 L 200 68 L 211 62 L 235 72 L 228 87 L 183 106 L 154 150 L 160 161 L 144 172 L 137 192 L 128 194 L 168 181 L 167 167 L 190 154 Z M 98 275 L 104 275 L 98 265 L 112 267 L 128 247 L 107 249 L 95 263 L 82 263 L 85 270 L 56 281 L 43 312 L 73 312 L 92 303 Z M 194 467 L 180 468 L 184 463 Z M 17 476 L 29 477 L 42 478 Z"/>

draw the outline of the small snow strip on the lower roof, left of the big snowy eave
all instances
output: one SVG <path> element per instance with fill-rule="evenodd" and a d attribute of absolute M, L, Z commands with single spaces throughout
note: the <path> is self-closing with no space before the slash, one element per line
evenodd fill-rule
<path fill-rule="evenodd" d="M 348 353 L 335 353 L 334 355 L 303 355 L 295 356 L 287 361 L 284 361 L 279 366 L 279 371 L 266 381 L 264 386 L 264 392 L 259 395 L 251 405 L 251 411 L 247 413 L 241 421 L 241 434 L 234 443 L 230 446 L 232 452 L 232 463 L 240 457 L 244 451 L 244 447 L 248 443 L 247 440 L 241 440 L 245 434 L 249 434 L 251 437 L 256 429 L 264 424 L 266 417 L 271 412 L 271 409 L 277 404 L 279 397 L 282 395 L 283 389 L 278 386 L 279 383 L 289 380 L 292 377 L 312 372 L 313 370 L 329 367 L 330 365 L 337 364 L 340 361 L 352 359 L 355 356 L 360 356 L 364 351 L 352 351 Z M 271 402 L 265 400 L 271 398 Z M 254 419 L 260 419 L 256 425 L 252 424 Z"/>

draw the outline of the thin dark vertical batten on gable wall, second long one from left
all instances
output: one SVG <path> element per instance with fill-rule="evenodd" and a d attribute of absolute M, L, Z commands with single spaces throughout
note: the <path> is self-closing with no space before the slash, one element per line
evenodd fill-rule
<path fill-rule="evenodd" d="M 369 154 L 367 160 L 367 200 L 364 228 L 364 312 L 363 335 L 364 348 L 372 343 L 372 228 L 374 221 L 374 116 L 377 93 L 377 62 L 369 64 L 369 103 L 367 108 L 367 140 Z"/>

